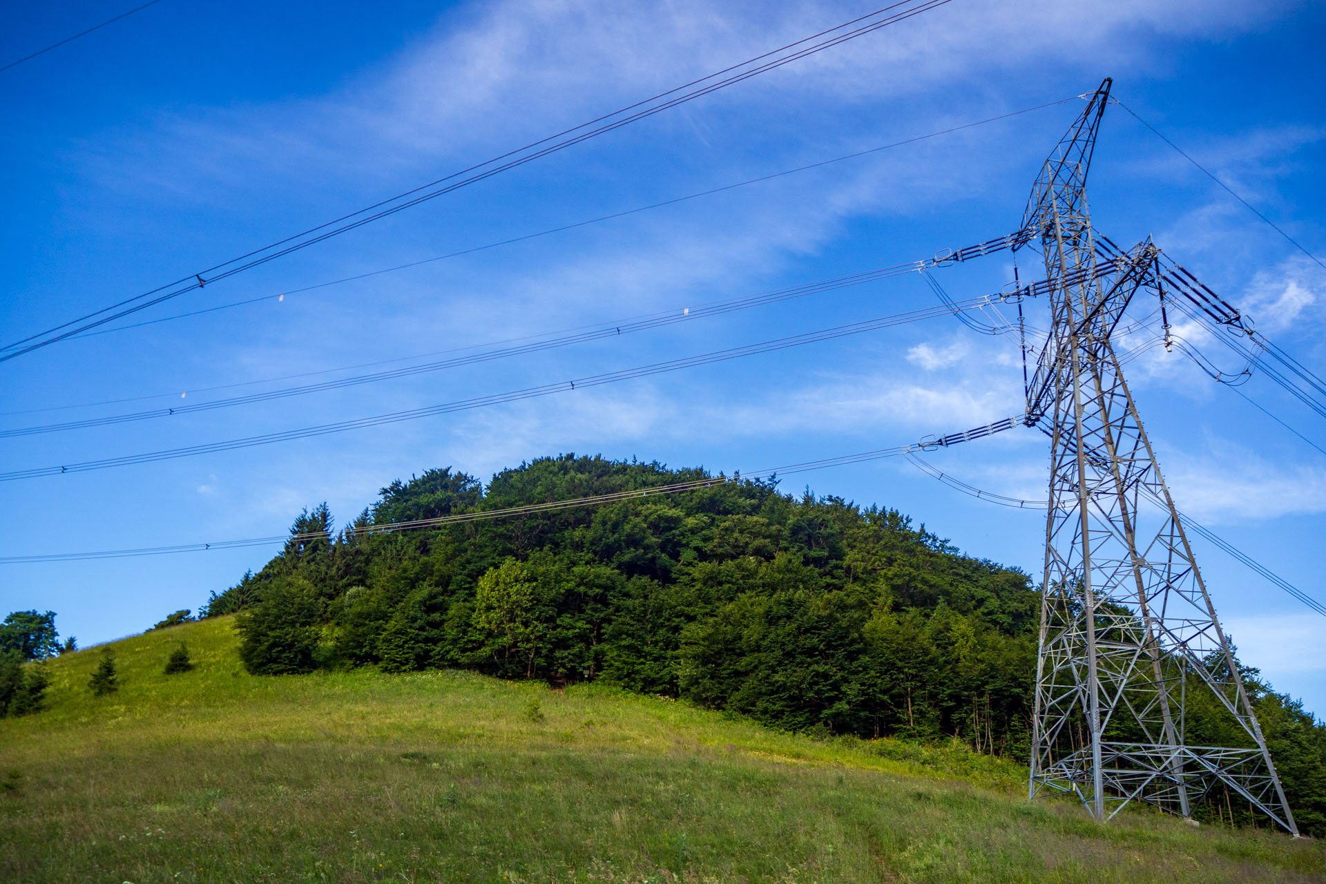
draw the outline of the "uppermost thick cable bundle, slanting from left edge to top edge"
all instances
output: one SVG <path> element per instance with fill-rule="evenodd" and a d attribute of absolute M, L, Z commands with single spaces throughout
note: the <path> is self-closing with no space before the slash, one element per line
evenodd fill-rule
<path fill-rule="evenodd" d="M 781 68 L 793 61 L 798 61 L 814 53 L 837 46 L 862 34 L 873 33 L 891 24 L 904 21 L 922 12 L 944 5 L 951 0 L 900 0 L 882 9 L 853 19 L 834 28 L 821 30 L 817 34 L 790 42 L 778 49 L 762 53 L 754 58 L 748 58 L 723 70 L 700 77 L 682 86 L 659 93 L 651 98 L 627 105 L 619 110 L 597 117 L 589 122 L 548 135 L 524 147 L 507 151 L 499 156 L 476 163 L 451 175 L 446 175 L 427 184 L 396 193 L 392 197 L 379 200 L 355 212 L 342 215 L 330 221 L 318 224 L 301 233 L 288 236 L 269 245 L 245 252 L 221 264 L 199 270 L 182 277 L 174 282 L 158 286 L 142 294 L 126 298 L 93 313 L 70 319 L 45 331 L 40 331 L 27 338 L 21 338 L 9 345 L 0 346 L 0 362 L 13 359 L 40 347 L 49 346 L 57 341 L 73 337 L 89 329 L 114 322 L 125 315 L 145 310 L 152 305 L 179 297 L 187 292 L 202 289 L 204 285 L 217 282 L 244 270 L 267 264 L 282 256 L 305 249 L 324 240 L 329 240 L 341 233 L 363 227 L 379 219 L 395 215 L 427 200 L 436 199 L 444 193 L 460 190 L 468 184 L 492 178 L 517 166 L 533 162 L 549 154 L 565 150 L 573 144 L 589 140 L 605 133 L 621 129 L 639 119 L 652 117 L 678 105 L 683 105 L 695 98 L 700 98 L 712 91 L 724 89 L 737 82 L 743 82 L 765 72 Z M 887 15 L 886 15 L 887 13 Z M 155 297 L 154 297 L 155 296 Z"/>

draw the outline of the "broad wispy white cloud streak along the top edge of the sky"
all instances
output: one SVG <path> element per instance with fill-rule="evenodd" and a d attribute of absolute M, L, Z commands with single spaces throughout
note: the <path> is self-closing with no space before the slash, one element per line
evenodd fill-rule
<path fill-rule="evenodd" d="M 386 70 L 333 93 L 259 106 L 192 107 L 86 148 L 101 152 L 106 186 L 141 191 L 151 183 L 196 199 L 206 199 L 210 182 L 244 187 L 255 170 L 301 186 L 328 176 L 391 176 L 402 168 L 446 174 L 451 170 L 444 158 L 472 160 L 492 148 L 509 150 L 858 12 L 842 3 L 471 4 L 443 16 Z M 1144 65 L 1148 41 L 1139 34 L 1223 33 L 1272 12 L 1265 4 L 1254 11 L 1201 0 L 953 4 L 658 121 L 684 127 L 703 144 L 709 140 L 707 119 L 724 115 L 732 102 L 741 102 L 743 113 L 786 117 L 789 105 L 809 111 L 910 97 L 969 81 L 973 69 L 1017 68 L 1028 60 L 1044 66 L 1090 57 L 1093 70 L 1110 61 Z"/>

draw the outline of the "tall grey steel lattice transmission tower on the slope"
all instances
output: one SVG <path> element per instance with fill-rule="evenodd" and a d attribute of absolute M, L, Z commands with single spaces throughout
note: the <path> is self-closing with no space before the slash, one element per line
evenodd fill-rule
<path fill-rule="evenodd" d="M 1103 822 L 1132 801 L 1187 818 L 1223 786 L 1297 835 L 1110 341 L 1136 293 L 1163 304 L 1166 292 L 1150 240 L 1120 253 L 1091 229 L 1086 176 L 1109 94 L 1106 80 L 1045 162 L 1021 235 L 1045 256 L 1052 311 L 1028 383 L 1028 423 L 1050 436 L 1029 793 L 1075 793 Z M 1236 745 L 1200 745 L 1211 737 L 1185 714 L 1196 702 Z"/>

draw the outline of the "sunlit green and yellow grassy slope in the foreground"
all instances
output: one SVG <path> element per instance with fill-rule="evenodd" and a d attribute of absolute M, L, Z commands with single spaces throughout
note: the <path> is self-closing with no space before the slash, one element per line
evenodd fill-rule
<path fill-rule="evenodd" d="M 179 639 L 199 667 L 163 676 Z M 1326 880 L 1319 842 L 1101 827 L 960 750 L 595 687 L 251 677 L 225 619 L 115 649 L 118 694 L 91 698 L 82 651 L 50 664 L 46 712 L 0 721 L 0 880 Z"/>

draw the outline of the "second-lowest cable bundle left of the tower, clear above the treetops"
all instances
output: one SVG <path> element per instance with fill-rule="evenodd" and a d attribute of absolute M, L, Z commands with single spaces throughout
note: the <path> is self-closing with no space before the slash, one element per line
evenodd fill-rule
<path fill-rule="evenodd" d="M 968 298 L 965 301 L 956 302 L 955 306 L 959 309 L 972 309 L 979 310 L 991 302 L 998 300 L 998 296 L 984 296 L 976 298 Z M 647 366 L 638 366 L 634 368 L 625 368 L 621 371 L 611 371 L 598 375 L 589 375 L 585 378 L 577 378 L 574 380 L 562 380 L 556 383 L 541 384 L 537 387 L 526 387 L 524 390 L 514 390 L 504 394 L 493 394 L 488 396 L 475 396 L 471 399 L 461 399 L 459 402 L 443 403 L 439 406 L 428 406 L 424 408 L 411 408 L 408 411 L 398 411 L 386 415 L 374 415 L 370 417 L 357 417 L 351 420 L 341 420 L 330 424 L 321 424 L 317 427 L 304 427 L 298 429 L 288 429 L 274 433 L 264 433 L 260 436 L 248 436 L 244 439 L 231 439 L 217 443 L 204 443 L 200 445 L 187 445 L 183 448 L 171 448 L 167 451 L 146 452 L 141 455 L 126 455 L 122 457 L 106 457 L 101 460 L 82 461 L 77 464 L 64 464 L 60 467 L 38 467 L 33 469 L 20 469 L 0 473 L 0 481 L 12 481 L 17 478 L 36 478 L 40 476 L 58 476 L 62 473 L 80 473 L 93 469 L 107 469 L 111 467 L 127 467 L 133 464 L 146 464 L 160 460 L 174 460 L 178 457 L 192 457 L 198 455 L 210 455 L 223 451 L 233 451 L 237 448 L 252 448 L 255 445 L 267 445 L 278 441 L 292 441 L 296 439 L 309 439 L 313 436 L 325 436 L 329 433 L 345 432 L 349 429 L 362 429 L 367 427 L 379 427 L 383 424 L 394 424 L 406 420 L 416 420 L 419 417 L 432 417 L 436 415 L 453 414 L 459 411 L 468 411 L 472 408 L 483 408 L 487 406 L 504 404 L 511 402 L 518 402 L 524 399 L 534 399 L 541 396 L 549 396 L 553 394 L 570 392 L 573 390 L 585 390 L 587 387 L 599 387 L 609 383 L 618 383 L 622 380 L 631 380 L 635 378 L 646 378 L 651 375 L 679 371 L 682 368 L 693 368 L 699 366 L 712 364 L 716 362 L 727 362 L 729 359 L 739 359 L 743 357 L 752 357 L 762 353 L 773 353 L 777 350 L 786 350 L 789 347 L 800 347 L 808 343 L 817 343 L 821 341 L 831 341 L 835 338 L 843 338 L 847 335 L 862 334 L 865 331 L 875 331 L 879 329 L 887 329 L 891 326 L 904 325 L 910 322 L 918 322 L 920 319 L 928 319 L 932 317 L 951 315 L 952 309 L 947 305 L 936 305 L 931 307 L 923 307 L 920 310 L 911 310 L 907 313 L 894 314 L 888 317 L 879 317 L 876 319 L 866 319 L 862 322 L 853 322 L 849 325 L 834 326 L 831 329 L 822 329 L 818 331 L 810 331 L 798 335 L 788 335 L 785 338 L 776 338 L 773 341 L 762 341 L 760 343 L 745 345 L 741 347 L 729 347 L 727 350 L 716 350 L 712 353 L 705 353 L 695 357 L 684 357 L 680 359 L 670 359 L 666 362 L 658 362 Z"/>

